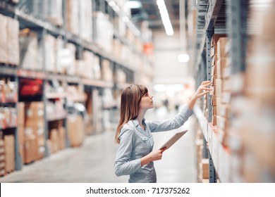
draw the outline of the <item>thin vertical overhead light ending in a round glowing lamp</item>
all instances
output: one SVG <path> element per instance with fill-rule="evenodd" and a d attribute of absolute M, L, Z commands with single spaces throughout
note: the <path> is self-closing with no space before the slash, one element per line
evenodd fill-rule
<path fill-rule="evenodd" d="M 185 0 L 180 1 L 180 45 L 181 45 L 181 53 L 178 55 L 178 61 L 180 63 L 188 63 L 190 60 L 190 56 L 186 50 L 186 30 L 185 30 Z M 183 43 L 184 42 L 184 43 Z"/>

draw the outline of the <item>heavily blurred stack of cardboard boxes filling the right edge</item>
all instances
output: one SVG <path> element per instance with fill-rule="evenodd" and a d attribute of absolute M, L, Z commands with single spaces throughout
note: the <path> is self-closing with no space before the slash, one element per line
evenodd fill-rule
<path fill-rule="evenodd" d="M 253 1 L 250 5 L 248 23 L 255 29 L 250 29 L 247 42 L 245 105 L 240 112 L 246 182 L 275 181 L 274 6 L 274 1 Z"/>

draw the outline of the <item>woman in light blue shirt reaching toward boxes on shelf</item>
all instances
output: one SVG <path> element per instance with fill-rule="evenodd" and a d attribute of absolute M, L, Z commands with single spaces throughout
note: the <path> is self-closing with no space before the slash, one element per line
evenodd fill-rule
<path fill-rule="evenodd" d="M 119 144 L 114 164 L 117 176 L 130 174 L 130 183 L 157 182 L 154 160 L 161 160 L 165 148 L 153 151 L 152 132 L 162 132 L 181 127 L 192 114 L 197 98 L 211 89 L 211 82 L 202 82 L 187 106 L 173 118 L 163 121 L 145 121 L 145 113 L 154 108 L 153 96 L 140 84 L 132 84 L 121 94 L 121 116 L 116 129 L 116 143 Z"/>

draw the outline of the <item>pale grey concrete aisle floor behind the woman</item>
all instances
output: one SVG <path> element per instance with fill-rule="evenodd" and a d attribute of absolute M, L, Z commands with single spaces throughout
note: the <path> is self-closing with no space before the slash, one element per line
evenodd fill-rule
<path fill-rule="evenodd" d="M 147 120 L 154 117 L 163 120 L 175 113 L 166 113 L 166 109 L 148 111 Z M 194 116 L 194 115 L 193 115 Z M 189 129 L 189 132 L 164 152 L 162 160 L 155 162 L 157 182 L 194 183 L 197 182 L 195 158 L 194 117 L 180 129 L 153 134 L 155 148 L 169 139 L 174 132 Z M 127 182 L 128 176 L 116 177 L 114 159 L 118 145 L 114 144 L 114 131 L 87 136 L 82 146 L 66 148 L 48 158 L 24 165 L 22 170 L 12 172 L 0 178 L 5 182 L 44 182 L 44 183 L 119 183 Z"/>

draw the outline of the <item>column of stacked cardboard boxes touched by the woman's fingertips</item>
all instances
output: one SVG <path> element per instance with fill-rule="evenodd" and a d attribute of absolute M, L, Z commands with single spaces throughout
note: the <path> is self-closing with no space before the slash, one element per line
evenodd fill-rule
<path fill-rule="evenodd" d="M 212 125 L 219 130 L 221 144 L 227 145 L 228 112 L 231 101 L 231 65 L 228 58 L 228 38 L 224 34 L 212 37 Z"/>

